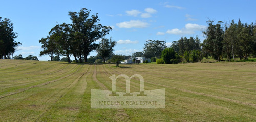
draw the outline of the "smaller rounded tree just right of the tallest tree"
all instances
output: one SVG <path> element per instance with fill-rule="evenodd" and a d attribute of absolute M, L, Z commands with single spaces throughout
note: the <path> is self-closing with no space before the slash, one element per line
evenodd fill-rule
<path fill-rule="evenodd" d="M 103 38 L 99 43 L 96 52 L 102 57 L 104 63 L 106 62 L 106 57 L 109 57 L 113 53 L 115 45 L 116 41 L 112 41 L 111 38 Z"/>

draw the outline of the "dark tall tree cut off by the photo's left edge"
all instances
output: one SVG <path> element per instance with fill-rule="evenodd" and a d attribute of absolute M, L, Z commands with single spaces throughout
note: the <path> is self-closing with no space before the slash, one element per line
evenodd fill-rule
<path fill-rule="evenodd" d="M 16 42 L 17 33 L 13 32 L 13 23 L 10 19 L 2 20 L 0 17 L 0 59 L 10 59 L 10 55 L 15 52 L 15 47 L 22 44 Z"/>

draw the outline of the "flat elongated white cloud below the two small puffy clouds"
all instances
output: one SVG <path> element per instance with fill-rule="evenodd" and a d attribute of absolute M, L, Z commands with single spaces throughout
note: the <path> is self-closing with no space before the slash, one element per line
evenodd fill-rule
<path fill-rule="evenodd" d="M 116 25 L 119 28 L 146 28 L 148 27 L 149 24 L 147 22 L 142 22 L 140 20 L 131 20 L 117 23 Z"/>

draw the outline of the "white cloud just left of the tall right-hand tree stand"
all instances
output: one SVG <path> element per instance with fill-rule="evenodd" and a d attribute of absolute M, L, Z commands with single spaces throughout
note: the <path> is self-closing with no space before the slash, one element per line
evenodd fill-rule
<path fill-rule="evenodd" d="M 198 24 L 191 24 L 188 23 L 185 25 L 185 28 L 183 29 L 168 29 L 166 33 L 168 34 L 175 34 L 175 35 L 186 35 L 186 34 L 194 34 L 195 31 L 201 31 L 202 29 L 206 28 L 204 25 L 198 25 Z"/>

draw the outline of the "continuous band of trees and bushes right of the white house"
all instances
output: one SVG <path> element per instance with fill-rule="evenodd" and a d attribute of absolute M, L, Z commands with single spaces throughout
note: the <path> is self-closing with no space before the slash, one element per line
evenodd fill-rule
<path fill-rule="evenodd" d="M 214 24 L 214 21 L 207 21 L 208 27 L 203 31 L 205 40 L 200 42 L 196 38 L 181 37 L 173 41 L 172 46 L 167 48 L 164 41 L 148 40 L 144 52 L 134 54 L 151 58 L 159 64 L 170 64 L 179 62 L 199 62 L 203 57 L 212 57 L 220 60 L 248 60 L 249 56 L 256 55 L 256 25 L 242 23 L 240 20 L 235 23 L 232 20 L 229 24 L 222 21 Z"/>

